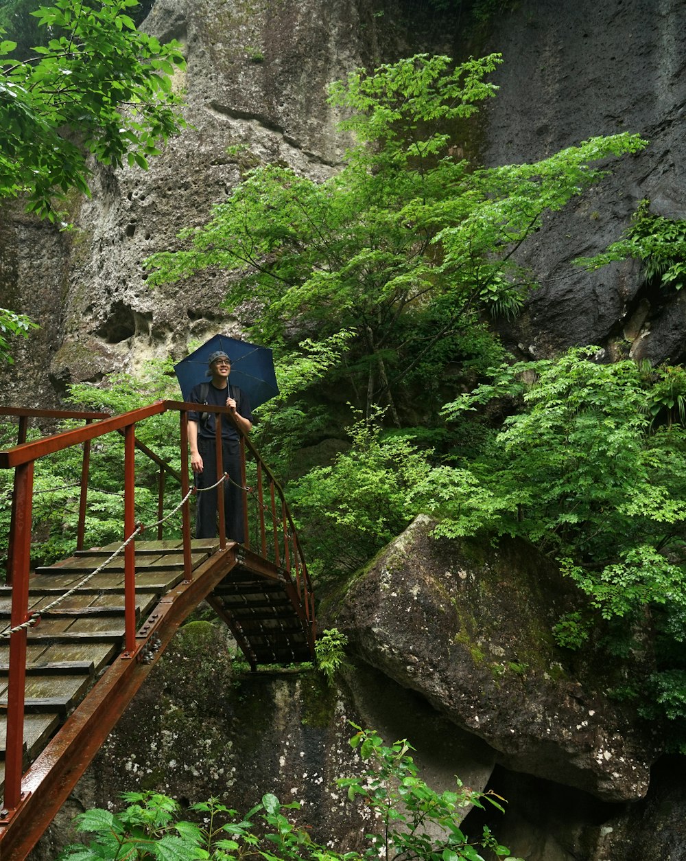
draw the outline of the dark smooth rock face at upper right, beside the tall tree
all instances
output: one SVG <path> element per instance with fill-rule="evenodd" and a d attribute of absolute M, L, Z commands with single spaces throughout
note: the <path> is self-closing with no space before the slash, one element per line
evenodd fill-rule
<path fill-rule="evenodd" d="M 550 355 L 572 344 L 609 347 L 641 299 L 649 311 L 625 350 L 652 362 L 683 361 L 686 339 L 678 294 L 643 290 L 633 262 L 587 273 L 574 257 L 602 251 L 619 238 L 643 198 L 656 214 L 686 215 L 686 99 L 679 0 L 556 3 L 528 0 L 495 22 L 488 48 L 504 54 L 500 90 L 485 128 L 488 164 L 535 161 L 599 134 L 640 133 L 650 146 L 624 158 L 596 189 L 547 219 L 524 261 L 541 289 L 526 313 L 504 326 L 513 347 Z"/>

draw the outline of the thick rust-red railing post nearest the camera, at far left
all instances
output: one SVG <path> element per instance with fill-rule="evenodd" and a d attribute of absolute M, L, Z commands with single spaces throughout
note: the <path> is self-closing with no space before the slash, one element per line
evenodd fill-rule
<path fill-rule="evenodd" d="M 12 554 L 12 611 L 10 626 L 28 621 L 28 572 L 31 558 L 31 508 L 34 490 L 34 461 L 15 470 L 15 536 Z M 22 798 L 24 747 L 24 684 L 26 681 L 27 631 L 9 636 L 9 687 L 7 694 L 7 739 L 5 752 L 4 807 L 14 809 Z"/>

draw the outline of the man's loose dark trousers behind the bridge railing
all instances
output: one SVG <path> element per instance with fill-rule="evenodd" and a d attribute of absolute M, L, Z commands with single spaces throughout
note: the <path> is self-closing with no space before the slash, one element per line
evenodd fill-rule
<path fill-rule="evenodd" d="M 238 440 L 222 440 L 223 468 L 229 474 L 224 482 L 224 523 L 226 538 L 243 543 L 244 536 L 244 492 L 240 489 L 240 446 Z M 198 451 L 202 458 L 203 469 L 195 475 L 198 488 L 213 485 L 218 479 L 216 455 L 213 439 L 199 439 Z M 196 538 L 213 538 L 217 535 L 217 487 L 197 493 Z"/>

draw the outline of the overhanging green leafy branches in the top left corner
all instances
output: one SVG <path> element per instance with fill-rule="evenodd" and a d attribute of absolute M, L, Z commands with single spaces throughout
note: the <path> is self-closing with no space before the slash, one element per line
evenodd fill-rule
<path fill-rule="evenodd" d="M 31 13 L 47 33 L 31 56 L 0 41 L 0 198 L 28 195 L 28 210 L 56 220 L 55 198 L 89 194 L 90 156 L 145 168 L 180 130 L 171 76 L 184 65 L 181 46 L 137 30 L 137 6 L 55 0 Z"/>

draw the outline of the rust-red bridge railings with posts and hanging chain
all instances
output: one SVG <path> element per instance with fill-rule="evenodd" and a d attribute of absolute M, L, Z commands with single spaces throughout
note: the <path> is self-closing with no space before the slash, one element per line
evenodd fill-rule
<path fill-rule="evenodd" d="M 75 446 L 83 447 L 81 492 L 79 500 L 79 515 L 77 524 L 77 550 L 83 549 L 85 540 L 85 515 L 87 510 L 88 478 L 90 473 L 90 443 L 99 437 L 109 433 L 119 433 L 124 437 L 124 464 L 123 464 L 123 542 L 114 552 L 113 557 L 102 563 L 96 570 L 108 564 L 114 555 L 124 555 L 124 650 L 121 657 L 133 659 L 136 657 L 140 646 L 136 643 L 136 597 L 135 597 L 135 538 L 145 528 L 158 527 L 158 537 L 161 537 L 162 524 L 179 511 L 182 511 L 182 554 L 184 579 L 192 579 L 192 557 L 191 557 L 191 525 L 190 525 L 190 498 L 198 492 L 191 485 L 188 476 L 188 412 L 195 411 L 197 405 L 183 403 L 181 401 L 158 401 L 150 406 L 140 407 L 137 410 L 123 413 L 119 416 L 104 417 L 102 413 L 66 413 L 49 411 L 26 411 L 11 408 L 0 408 L 0 415 L 16 415 L 20 418 L 20 432 L 18 444 L 5 451 L 0 451 L 0 469 L 14 470 L 14 492 L 13 492 L 13 516 L 10 528 L 9 543 L 11 553 L 9 558 L 8 581 L 12 585 L 12 607 L 10 613 L 9 630 L 5 635 L 9 636 L 9 687 L 7 707 L 7 742 L 5 756 L 5 797 L 4 807 L 15 808 L 21 798 L 22 782 L 22 745 L 23 745 L 23 712 L 24 712 L 24 685 L 26 676 L 26 653 L 28 629 L 36 623 L 36 614 L 28 610 L 28 582 L 30 571 L 30 550 L 32 538 L 32 511 L 34 499 L 34 465 L 37 461 L 49 455 Z M 228 422 L 233 424 L 238 433 L 240 444 L 240 466 L 241 480 L 240 489 L 244 494 L 244 548 L 251 550 L 263 559 L 272 562 L 279 570 L 284 582 L 294 589 L 300 602 L 303 623 L 309 629 L 311 638 L 314 635 L 314 596 L 312 585 L 307 574 L 306 564 L 298 542 L 293 519 L 287 509 L 286 499 L 279 483 L 263 463 L 259 453 L 244 436 L 238 427 L 232 412 L 227 407 L 203 406 L 203 411 L 215 412 L 219 420 L 216 422 L 215 431 L 215 453 L 217 459 L 217 475 L 221 477 L 217 481 L 217 508 L 219 512 L 224 511 L 224 485 L 230 480 L 224 474 L 221 466 L 221 424 Z M 141 422 L 164 412 L 178 412 L 180 418 L 179 447 L 181 455 L 181 471 L 176 472 L 162 458 L 158 457 L 151 449 L 136 440 L 136 427 Z M 25 420 L 28 415 L 37 415 L 41 418 L 80 418 L 86 424 L 83 427 L 62 431 L 48 437 L 41 437 L 34 441 L 26 441 Z M 97 419 L 97 421 L 94 421 Z M 23 438 L 22 438 L 23 437 Z M 143 452 L 146 457 L 155 461 L 159 468 L 159 474 L 171 475 L 181 484 L 181 501 L 178 502 L 173 511 L 164 515 L 164 480 L 158 480 L 158 520 L 156 523 L 144 527 L 142 523 L 136 522 L 135 516 L 135 489 L 136 489 L 136 450 Z M 249 485 L 246 479 L 246 457 L 255 461 L 253 470 L 256 482 Z M 207 490 L 213 488 L 206 488 Z M 255 514 L 250 517 L 250 499 L 256 500 L 254 506 Z M 219 547 L 227 546 L 226 529 L 224 517 L 218 517 L 219 521 Z M 251 548 L 251 537 L 255 548 Z M 94 576 L 91 572 L 81 583 L 74 586 L 76 591 L 79 585 L 83 585 Z M 70 590 L 70 594 L 72 591 Z M 56 599 L 53 604 L 58 604 L 62 598 Z M 50 605 L 42 608 L 40 613 L 45 614 Z"/>

